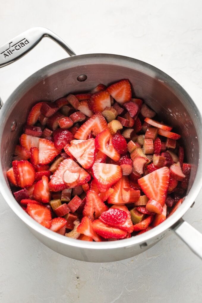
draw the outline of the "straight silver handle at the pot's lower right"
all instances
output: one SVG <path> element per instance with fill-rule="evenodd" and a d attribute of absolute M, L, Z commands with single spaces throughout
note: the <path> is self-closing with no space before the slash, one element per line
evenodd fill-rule
<path fill-rule="evenodd" d="M 202 234 L 183 219 L 180 219 L 172 229 L 194 254 L 202 259 Z"/>

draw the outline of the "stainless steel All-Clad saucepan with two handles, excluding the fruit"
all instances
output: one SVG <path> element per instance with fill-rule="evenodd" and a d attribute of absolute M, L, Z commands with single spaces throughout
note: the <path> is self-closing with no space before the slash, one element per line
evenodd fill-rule
<path fill-rule="evenodd" d="M 55 40 L 70 57 L 45 66 L 27 78 L 0 110 L 0 190 L 5 201 L 39 241 L 69 258 L 89 262 L 130 258 L 156 244 L 169 230 L 175 231 L 202 258 L 202 235 L 182 219 L 202 186 L 202 119 L 194 101 L 174 79 L 152 65 L 119 55 L 75 55 L 57 35 L 41 27 L 32 28 L 1 46 L 0 67 L 25 55 L 43 37 Z M 182 135 L 186 160 L 191 164 L 187 195 L 173 215 L 157 227 L 135 237 L 97 243 L 59 235 L 34 221 L 10 190 L 6 171 L 11 167 L 14 145 L 22 125 L 28 111 L 38 101 L 54 101 L 69 92 L 88 92 L 99 83 L 109 85 L 124 78 L 130 80 L 133 95 L 143 98 L 165 123 L 174 125 Z"/>

